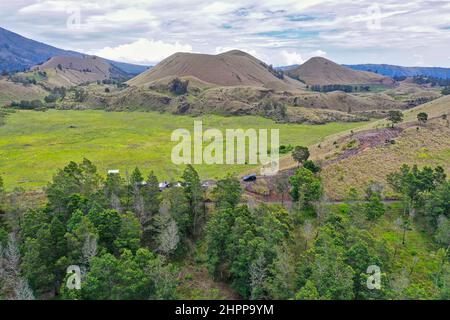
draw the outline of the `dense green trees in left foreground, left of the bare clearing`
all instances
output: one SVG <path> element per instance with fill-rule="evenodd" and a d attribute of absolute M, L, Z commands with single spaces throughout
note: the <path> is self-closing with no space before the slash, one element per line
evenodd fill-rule
<path fill-rule="evenodd" d="M 58 171 L 44 208 L 17 213 L 2 201 L 3 297 L 19 299 L 26 291 L 39 298 L 176 298 L 177 274 L 167 259 L 183 254 L 204 218 L 192 167 L 183 186 L 161 193 L 153 173 L 144 179 L 138 169 L 128 179 L 103 180 L 85 159 Z M 79 291 L 66 287 L 70 265 L 82 270 Z"/>

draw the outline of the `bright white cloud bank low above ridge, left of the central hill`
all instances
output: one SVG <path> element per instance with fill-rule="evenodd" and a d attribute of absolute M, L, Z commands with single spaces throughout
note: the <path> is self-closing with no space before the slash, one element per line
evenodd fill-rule
<path fill-rule="evenodd" d="M 117 47 L 105 47 L 94 54 L 116 61 L 137 64 L 155 64 L 176 52 L 192 52 L 192 46 L 179 42 L 166 43 L 163 41 L 138 39 L 129 44 Z"/>

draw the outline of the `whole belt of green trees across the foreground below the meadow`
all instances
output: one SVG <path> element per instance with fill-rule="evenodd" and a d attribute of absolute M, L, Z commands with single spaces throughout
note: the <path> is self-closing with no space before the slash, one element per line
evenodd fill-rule
<path fill-rule="evenodd" d="M 404 165 L 388 177 L 404 208 L 399 245 L 421 223 L 441 248 L 430 290 L 411 282 L 414 262 L 399 271 L 398 247 L 371 233 L 388 212 L 383 185 L 370 182 L 364 195 L 351 189 L 345 204 L 330 204 L 320 167 L 297 149 L 299 168 L 278 183 L 290 192 L 290 210 L 245 201 L 234 176 L 208 191 L 192 166 L 161 191 L 152 172 L 103 179 L 90 161 L 71 162 L 48 184 L 46 205 L 31 210 L 20 207 L 20 190 L 6 195 L 0 179 L 1 297 L 182 298 L 173 261 L 201 240 L 211 276 L 246 299 L 450 298 L 450 181 L 441 167 Z M 66 285 L 71 265 L 81 270 L 81 290 Z M 367 285 L 369 266 L 381 270 L 376 290 Z"/>

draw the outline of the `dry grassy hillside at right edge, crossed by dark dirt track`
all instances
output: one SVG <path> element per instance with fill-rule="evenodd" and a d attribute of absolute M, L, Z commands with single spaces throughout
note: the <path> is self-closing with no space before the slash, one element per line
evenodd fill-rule
<path fill-rule="evenodd" d="M 428 114 L 427 124 L 418 124 L 419 112 Z M 328 197 L 344 199 L 350 187 L 362 192 L 370 180 L 386 184 L 386 175 L 403 163 L 441 165 L 450 174 L 450 124 L 443 119 L 448 114 L 450 96 L 444 96 L 404 111 L 404 123 L 395 129 L 383 119 L 310 146 L 312 159 L 323 166 Z M 283 168 L 296 166 L 290 157 L 282 159 Z"/>

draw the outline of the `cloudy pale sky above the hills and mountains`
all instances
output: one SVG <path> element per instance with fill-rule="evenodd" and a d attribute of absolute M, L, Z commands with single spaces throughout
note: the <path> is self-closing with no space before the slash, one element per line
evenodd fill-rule
<path fill-rule="evenodd" d="M 241 49 L 277 66 L 325 56 L 450 67 L 448 0 L 1 0 L 0 27 L 147 65 Z"/>

